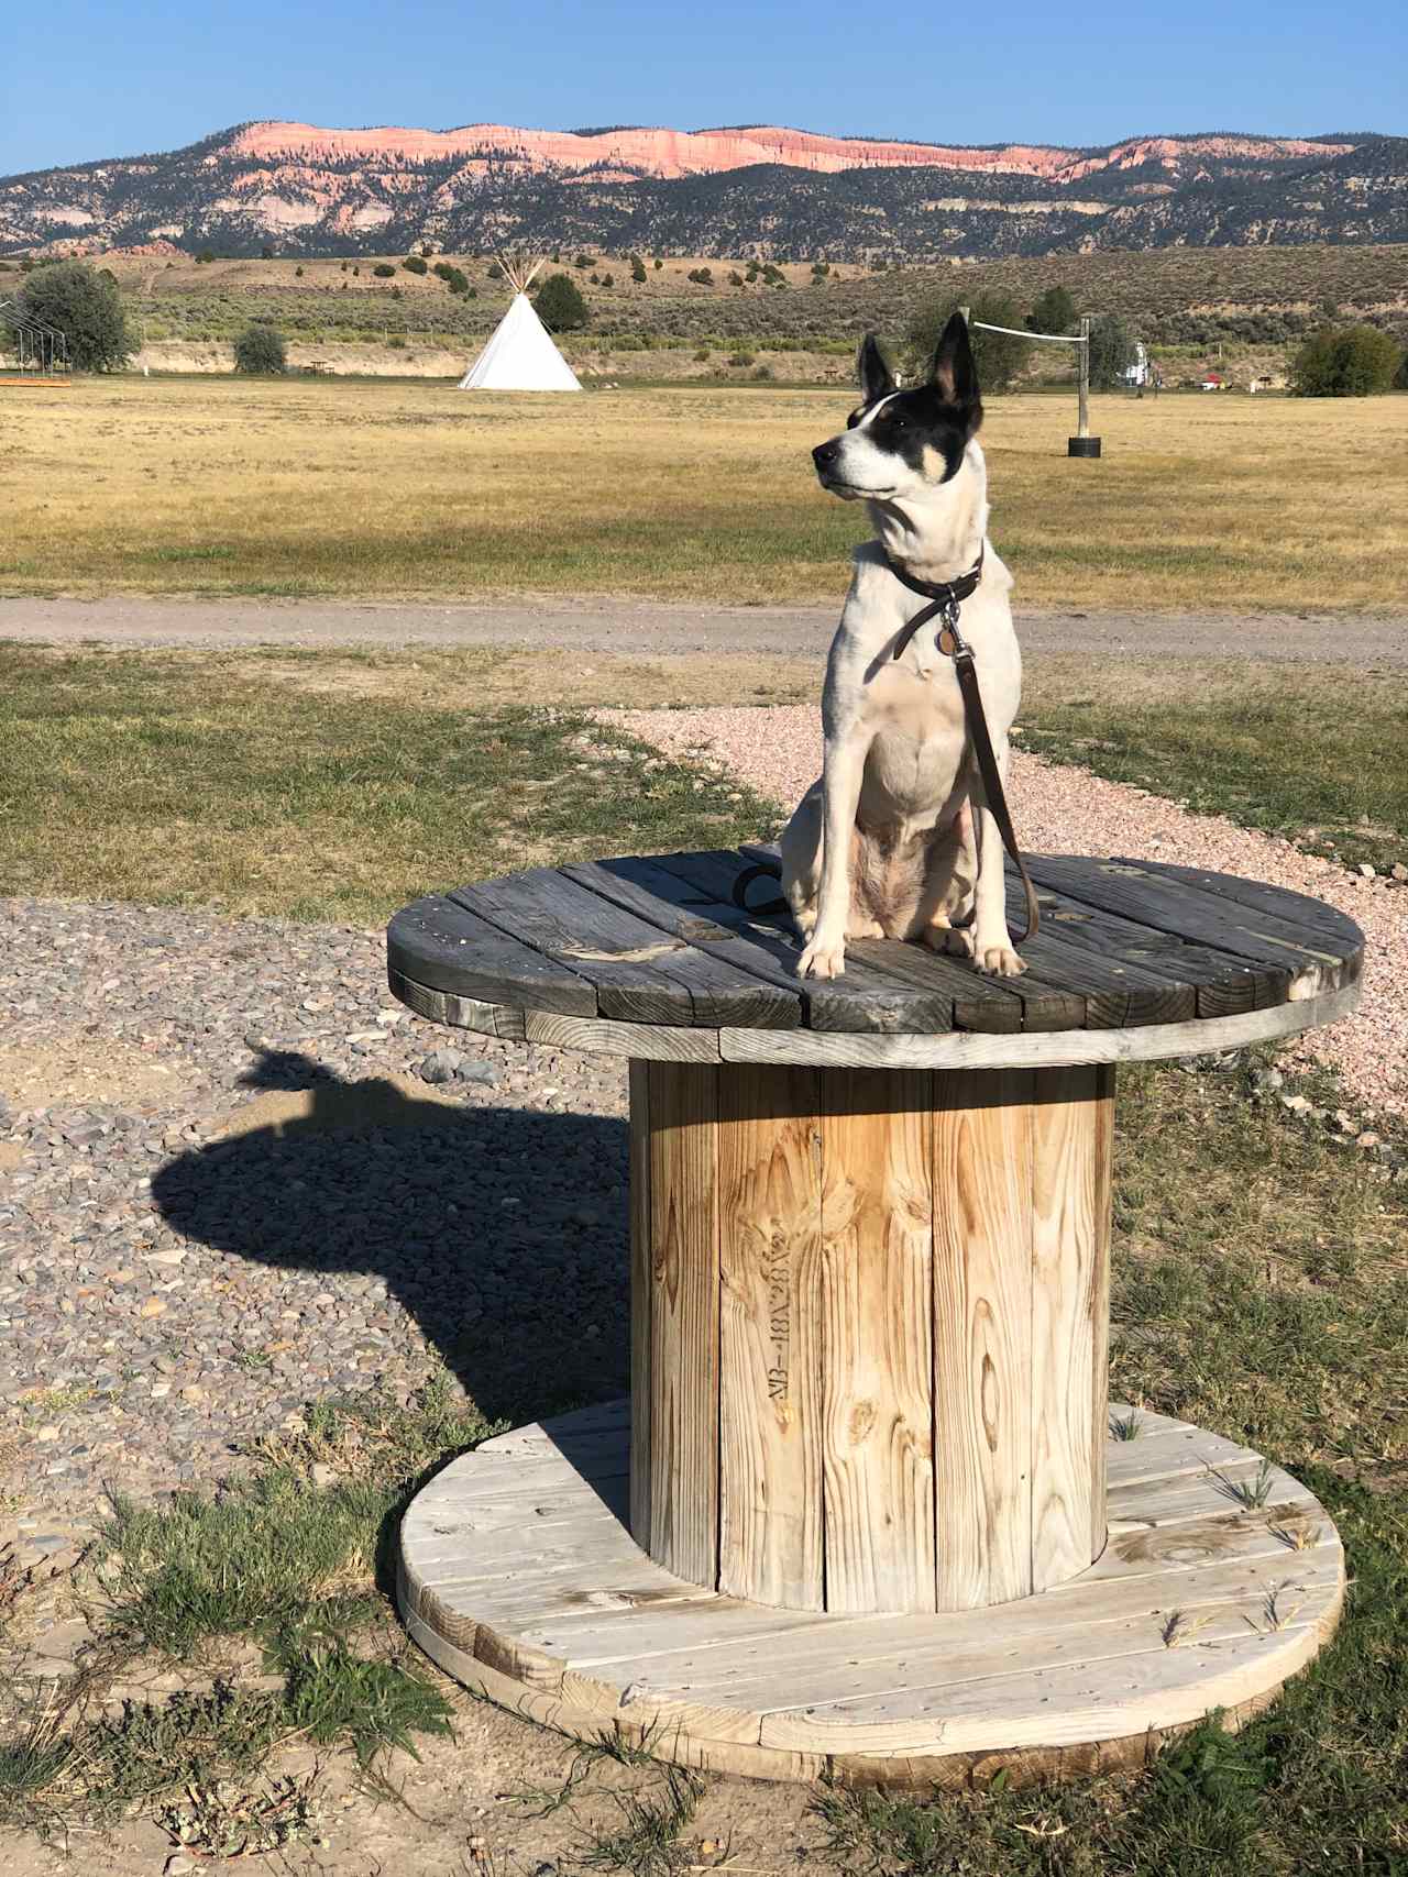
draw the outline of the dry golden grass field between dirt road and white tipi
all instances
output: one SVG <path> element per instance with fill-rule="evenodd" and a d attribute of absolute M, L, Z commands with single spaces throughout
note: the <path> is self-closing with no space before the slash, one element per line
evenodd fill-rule
<path fill-rule="evenodd" d="M 0 390 L 0 593 L 834 599 L 865 516 L 807 450 L 843 390 L 84 379 Z M 1027 606 L 1402 604 L 1408 398 L 991 402 Z"/>

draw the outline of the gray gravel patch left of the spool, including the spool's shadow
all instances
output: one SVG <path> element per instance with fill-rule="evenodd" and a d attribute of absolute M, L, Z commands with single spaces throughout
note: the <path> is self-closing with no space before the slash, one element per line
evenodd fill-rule
<path fill-rule="evenodd" d="M 9 899 L 0 935 L 0 1541 L 439 1361 L 490 1415 L 623 1383 L 620 1064 L 421 1023 L 379 931 Z"/>

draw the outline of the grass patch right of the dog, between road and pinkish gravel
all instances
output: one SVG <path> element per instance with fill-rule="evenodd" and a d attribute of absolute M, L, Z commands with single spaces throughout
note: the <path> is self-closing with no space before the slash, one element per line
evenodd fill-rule
<path fill-rule="evenodd" d="M 1040 657 L 1019 743 L 1346 865 L 1408 862 L 1402 672 Z"/>

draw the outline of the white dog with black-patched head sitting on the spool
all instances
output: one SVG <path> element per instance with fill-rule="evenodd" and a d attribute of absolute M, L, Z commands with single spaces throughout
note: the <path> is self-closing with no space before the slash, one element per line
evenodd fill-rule
<path fill-rule="evenodd" d="M 1021 702 L 1012 574 L 987 542 L 982 396 L 954 313 L 927 377 L 901 390 L 875 334 L 856 360 L 862 402 L 811 452 L 822 488 L 864 501 L 875 541 L 826 661 L 822 775 L 781 839 L 783 895 L 803 940 L 798 976 L 837 978 L 849 938 L 912 938 L 1012 978 L 1002 841 L 967 730 L 954 661 L 931 625 L 895 657 L 924 601 L 894 567 L 942 584 L 980 572 L 961 603 L 1002 781 Z"/>

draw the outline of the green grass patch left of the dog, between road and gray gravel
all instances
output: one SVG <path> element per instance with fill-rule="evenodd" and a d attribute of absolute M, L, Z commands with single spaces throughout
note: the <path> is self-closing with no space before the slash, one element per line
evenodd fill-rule
<path fill-rule="evenodd" d="M 458 691 L 492 663 L 460 664 Z M 548 858 L 727 847 L 775 822 L 573 711 L 302 672 L 0 648 L 0 892 L 368 923 Z"/>

